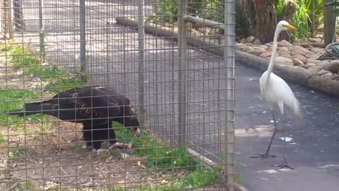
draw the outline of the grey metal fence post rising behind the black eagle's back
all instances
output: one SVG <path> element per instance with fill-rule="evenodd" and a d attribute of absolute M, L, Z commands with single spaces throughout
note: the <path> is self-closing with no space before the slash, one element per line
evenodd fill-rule
<path fill-rule="evenodd" d="M 86 33 L 85 33 L 85 0 L 79 0 L 79 19 L 80 19 L 80 63 L 81 71 L 86 71 Z"/>

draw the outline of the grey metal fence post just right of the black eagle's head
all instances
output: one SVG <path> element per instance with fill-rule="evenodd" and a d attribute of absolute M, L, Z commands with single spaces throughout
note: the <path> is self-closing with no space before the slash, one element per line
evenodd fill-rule
<path fill-rule="evenodd" d="M 138 5 L 138 105 L 141 124 L 145 124 L 145 76 L 144 76 L 144 39 L 145 39 L 145 21 L 144 21 L 144 1 L 139 0 Z"/>

